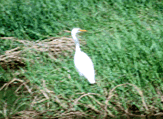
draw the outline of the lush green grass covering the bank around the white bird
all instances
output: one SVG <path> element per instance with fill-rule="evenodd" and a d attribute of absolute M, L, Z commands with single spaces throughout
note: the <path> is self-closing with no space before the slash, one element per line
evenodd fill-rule
<path fill-rule="evenodd" d="M 119 84 L 130 83 L 143 91 L 149 109 L 163 110 L 160 94 L 163 92 L 163 2 L 160 0 L 2 0 L 0 1 L 0 36 L 19 39 L 40 40 L 50 36 L 65 36 L 64 30 L 80 27 L 88 30 L 82 34 L 87 45 L 82 50 L 93 60 L 97 84 L 89 85 L 74 68 L 73 54 L 60 56 L 56 61 L 40 55 L 41 61 L 27 63 L 22 74 L 31 83 L 42 86 L 46 81 L 49 89 L 62 96 L 69 103 L 80 97 L 78 93 L 96 93 L 95 98 L 104 103 L 106 92 Z M 19 46 L 18 43 L 0 40 L 0 54 Z M 42 63 L 40 63 L 42 62 Z M 1 69 L 2 71 L 2 69 Z M 1 80 L 11 80 L 12 73 L 2 71 Z M 9 76 L 8 76 L 9 75 Z M 70 76 L 70 78 L 69 78 Z M 8 78 L 8 79 L 7 79 Z M 124 109 L 136 105 L 142 113 L 145 108 L 134 87 L 118 87 L 109 105 L 119 102 Z M 5 97 L 5 96 L 4 96 Z M 25 97 L 26 98 L 26 97 Z M 2 98 L 2 100 L 5 100 Z M 26 100 L 25 100 L 26 102 Z M 83 97 L 82 104 L 91 104 L 103 111 L 91 98 Z M 45 103 L 45 102 L 43 102 Z M 35 105 L 37 111 L 46 110 Z M 48 115 L 63 111 L 54 102 Z M 87 112 L 86 107 L 75 110 Z M 117 110 L 109 108 L 114 115 Z M 15 112 L 16 113 L 16 112 Z M 149 112 L 153 113 L 153 112 Z M 94 113 L 90 113 L 93 115 Z M 11 116 L 10 114 L 8 116 Z"/>

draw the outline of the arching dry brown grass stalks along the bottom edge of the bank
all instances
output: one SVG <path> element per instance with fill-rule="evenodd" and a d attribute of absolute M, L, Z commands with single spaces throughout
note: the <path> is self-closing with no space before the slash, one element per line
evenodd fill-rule
<path fill-rule="evenodd" d="M 46 87 L 46 82 L 45 80 L 42 80 L 42 86 L 39 87 L 37 85 L 31 85 L 30 82 L 27 81 L 23 81 L 21 79 L 16 79 L 14 78 L 13 80 L 11 80 L 10 82 L 5 83 L 1 88 L 0 91 L 5 91 L 8 89 L 9 85 L 15 85 L 15 83 L 19 83 L 19 86 L 17 87 L 17 89 L 15 90 L 15 94 L 17 96 L 21 96 L 22 91 L 20 91 L 20 89 L 23 89 L 24 94 L 29 94 L 30 95 L 30 107 L 28 108 L 28 110 L 23 110 L 20 112 L 17 112 L 16 114 L 13 115 L 12 118 L 41 118 L 43 117 L 48 111 L 54 113 L 54 115 L 52 116 L 53 118 L 82 118 L 82 117 L 89 117 L 89 118 L 96 118 L 97 114 L 101 115 L 101 118 L 108 118 L 108 117 L 112 117 L 115 118 L 116 115 L 111 113 L 111 110 L 109 108 L 114 108 L 115 110 L 119 110 L 121 112 L 123 112 L 123 116 L 125 116 L 126 118 L 130 118 L 130 117 L 140 117 L 140 118 L 145 118 L 147 116 L 158 116 L 161 117 L 163 116 L 163 113 L 159 112 L 159 113 L 155 113 L 155 114 L 148 114 L 148 112 L 150 112 L 150 109 L 148 108 L 149 105 L 147 105 L 144 101 L 144 96 L 143 96 L 143 92 L 135 85 L 130 84 L 130 83 L 126 83 L 126 84 L 120 84 L 115 86 L 113 89 L 111 89 L 108 92 L 108 96 L 106 96 L 106 100 L 105 101 L 98 101 L 98 96 L 102 96 L 96 93 L 82 93 L 80 94 L 80 96 L 76 99 L 70 99 L 73 100 L 71 102 L 69 102 L 68 99 L 62 97 L 61 95 L 56 95 L 54 91 L 48 89 Z M 141 99 L 142 99 L 142 104 L 144 107 L 144 111 L 146 112 L 146 114 L 133 114 L 132 112 L 130 112 L 129 109 L 124 109 L 122 104 L 114 101 L 111 101 L 111 98 L 113 98 L 114 96 L 116 96 L 116 89 L 120 86 L 131 86 L 133 88 L 135 88 L 135 91 L 137 91 L 137 93 L 140 95 Z M 96 102 L 97 105 L 99 105 L 99 109 L 97 109 L 94 105 L 89 104 L 83 104 L 80 102 L 80 100 L 85 97 L 88 96 L 89 98 L 91 98 L 92 100 L 94 100 Z M 58 111 L 54 111 L 51 110 L 51 107 L 53 105 L 53 102 L 57 103 L 59 107 L 61 107 L 64 112 L 60 112 Z M 69 102 L 69 103 L 68 103 Z M 112 105 L 108 104 L 108 102 L 112 103 Z M 39 112 L 37 109 L 37 105 L 42 105 L 42 108 L 45 109 L 44 111 Z M 96 114 L 92 115 L 89 114 L 88 112 L 83 112 L 80 110 L 76 110 L 75 107 L 76 106 L 84 106 L 88 108 L 88 112 L 94 112 Z M 107 108 L 109 106 L 109 108 Z M 4 107 L 5 108 L 5 107 Z M 52 118 L 51 116 L 49 116 L 49 118 Z"/>

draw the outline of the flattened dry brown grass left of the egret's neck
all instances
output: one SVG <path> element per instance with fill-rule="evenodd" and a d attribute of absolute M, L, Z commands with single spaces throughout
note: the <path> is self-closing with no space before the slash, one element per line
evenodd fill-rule
<path fill-rule="evenodd" d="M 56 59 L 59 55 L 69 55 L 75 48 L 74 40 L 67 37 L 51 37 L 42 41 L 19 40 L 13 37 L 1 37 L 0 39 L 8 39 L 22 44 L 22 47 L 7 50 L 4 55 L 0 55 L 0 65 L 5 70 L 25 66 L 25 62 L 30 60 L 26 58 L 26 52 L 36 54 L 43 52 L 47 53 L 51 59 Z M 81 43 L 85 44 L 84 41 Z"/>

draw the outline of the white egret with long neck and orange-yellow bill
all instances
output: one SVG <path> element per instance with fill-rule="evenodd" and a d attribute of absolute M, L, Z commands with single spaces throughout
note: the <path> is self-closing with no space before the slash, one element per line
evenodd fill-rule
<path fill-rule="evenodd" d="M 89 56 L 81 51 L 79 40 L 76 37 L 77 33 L 84 32 L 86 30 L 81 30 L 80 28 L 73 28 L 71 31 L 71 36 L 75 41 L 76 51 L 74 55 L 74 64 L 79 72 L 80 76 L 84 76 L 90 84 L 95 83 L 95 71 L 92 60 Z"/>

